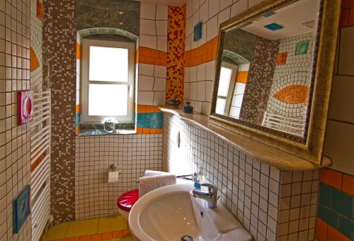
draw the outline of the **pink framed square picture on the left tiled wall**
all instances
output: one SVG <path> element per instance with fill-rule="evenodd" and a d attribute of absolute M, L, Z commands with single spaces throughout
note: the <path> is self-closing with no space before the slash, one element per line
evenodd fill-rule
<path fill-rule="evenodd" d="M 33 91 L 18 91 L 18 125 L 33 120 Z"/>

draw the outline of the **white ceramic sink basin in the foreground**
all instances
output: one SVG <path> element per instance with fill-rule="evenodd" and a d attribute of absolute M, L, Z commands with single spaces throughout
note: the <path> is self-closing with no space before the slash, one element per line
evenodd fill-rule
<path fill-rule="evenodd" d="M 139 198 L 129 215 L 132 235 L 142 241 L 181 240 L 183 236 L 185 240 L 252 240 L 221 203 L 208 208 L 205 200 L 191 194 L 192 189 L 193 183 L 188 181 Z"/>

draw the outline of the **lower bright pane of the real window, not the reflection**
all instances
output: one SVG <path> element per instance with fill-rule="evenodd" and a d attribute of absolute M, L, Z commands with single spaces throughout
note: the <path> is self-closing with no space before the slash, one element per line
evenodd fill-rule
<path fill-rule="evenodd" d="M 127 85 L 90 84 L 89 116 L 127 116 Z"/>

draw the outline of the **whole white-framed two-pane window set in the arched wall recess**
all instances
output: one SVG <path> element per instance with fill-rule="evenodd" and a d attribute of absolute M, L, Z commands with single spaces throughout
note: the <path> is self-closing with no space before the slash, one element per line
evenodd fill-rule
<path fill-rule="evenodd" d="M 133 123 L 135 43 L 83 40 L 81 120 Z"/>

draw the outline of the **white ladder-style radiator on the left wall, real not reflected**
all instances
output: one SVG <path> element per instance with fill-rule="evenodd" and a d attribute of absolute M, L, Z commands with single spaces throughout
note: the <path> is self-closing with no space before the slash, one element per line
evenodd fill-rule
<path fill-rule="evenodd" d="M 34 94 L 30 125 L 32 240 L 38 241 L 50 218 L 50 91 Z"/>

